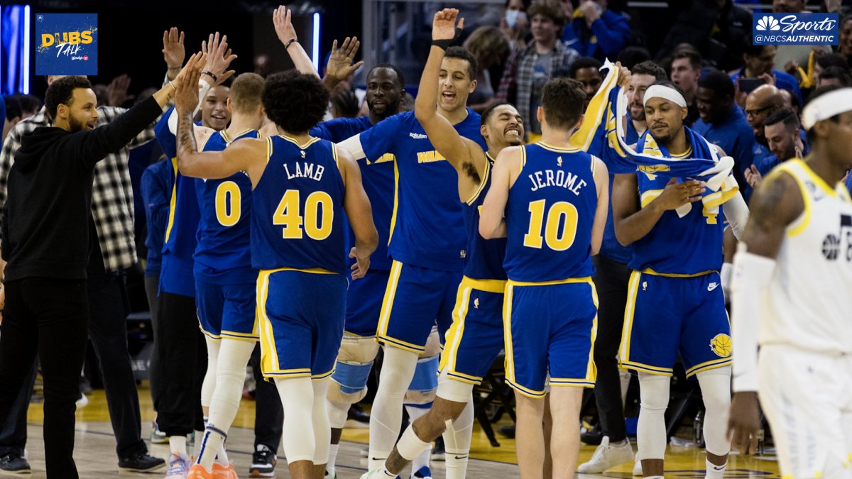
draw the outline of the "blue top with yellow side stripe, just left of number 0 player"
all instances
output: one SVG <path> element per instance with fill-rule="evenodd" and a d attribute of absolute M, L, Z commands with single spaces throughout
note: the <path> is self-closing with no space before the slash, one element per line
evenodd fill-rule
<path fill-rule="evenodd" d="M 159 286 L 161 291 L 195 297 L 193 254 L 197 245 L 195 234 L 199 228 L 201 213 L 199 201 L 195 196 L 195 179 L 183 176 L 177 170 L 177 142 L 168 126 L 170 114 L 171 110 L 164 113 L 154 129 L 160 147 L 169 159 L 169 173 L 174 179 L 169 203 L 169 221 L 165 227 Z"/>

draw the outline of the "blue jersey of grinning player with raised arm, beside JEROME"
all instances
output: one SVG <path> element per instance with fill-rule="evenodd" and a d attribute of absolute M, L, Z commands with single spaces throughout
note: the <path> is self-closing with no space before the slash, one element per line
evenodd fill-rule
<path fill-rule="evenodd" d="M 487 153 L 486 153 L 487 156 Z M 464 275 L 472 280 L 506 280 L 503 259 L 506 256 L 506 239 L 486 240 L 479 234 L 482 202 L 491 188 L 491 171 L 494 167 L 491 156 L 487 156 L 482 184 L 474 196 L 462 204 L 464 228 L 468 234 L 468 257 L 464 262 Z"/>

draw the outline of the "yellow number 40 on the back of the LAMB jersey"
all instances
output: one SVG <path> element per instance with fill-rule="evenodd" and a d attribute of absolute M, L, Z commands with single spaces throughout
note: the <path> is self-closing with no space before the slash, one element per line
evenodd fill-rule
<path fill-rule="evenodd" d="M 305 211 L 299 211 L 299 190 L 288 189 L 275 208 L 272 223 L 284 226 L 285 240 L 301 240 L 302 232 L 307 233 L 311 240 L 325 240 L 331 234 L 333 219 L 334 203 L 328 193 L 314 191 L 308 194 Z"/>

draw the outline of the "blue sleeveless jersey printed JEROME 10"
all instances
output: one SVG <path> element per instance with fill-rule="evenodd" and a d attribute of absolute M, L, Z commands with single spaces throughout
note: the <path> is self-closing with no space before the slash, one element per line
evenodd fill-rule
<path fill-rule="evenodd" d="M 521 174 L 506 205 L 509 280 L 540 283 L 590 276 L 597 208 L 595 157 L 535 143 L 521 147 Z"/>

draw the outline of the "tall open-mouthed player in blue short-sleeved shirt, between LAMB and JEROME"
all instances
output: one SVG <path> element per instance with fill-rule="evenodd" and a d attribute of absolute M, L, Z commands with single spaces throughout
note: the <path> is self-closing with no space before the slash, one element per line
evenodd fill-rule
<path fill-rule="evenodd" d="M 436 112 L 461 136 L 486 149 L 480 116 L 465 107 L 476 88 L 475 57 L 459 47 L 446 49 L 440 70 Z M 356 159 L 395 156 L 388 247 L 393 263 L 377 331 L 384 362 L 370 417 L 369 469 L 376 470 L 400 435 L 403 396 L 435 320 L 441 335 L 452 324 L 452 305 L 467 256 L 465 231 L 458 197 L 446 190 L 458 181 L 456 170 L 435 151 L 414 113 L 388 118 L 340 146 Z M 434 378 L 437 354 L 436 350 L 433 361 L 419 362 L 417 376 Z"/>

